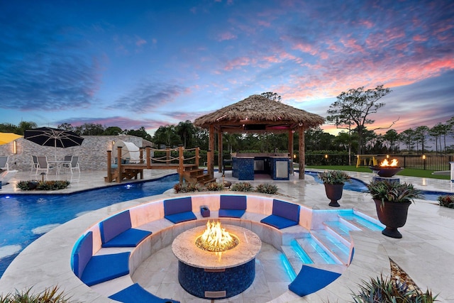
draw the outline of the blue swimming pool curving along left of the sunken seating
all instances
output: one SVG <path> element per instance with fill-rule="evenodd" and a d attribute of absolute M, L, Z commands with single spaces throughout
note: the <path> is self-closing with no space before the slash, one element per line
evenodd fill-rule
<path fill-rule="evenodd" d="M 88 211 L 162 194 L 178 180 L 178 174 L 174 174 L 153 181 L 114 185 L 74 194 L 0 195 L 0 277 L 26 246 L 52 228 Z"/>

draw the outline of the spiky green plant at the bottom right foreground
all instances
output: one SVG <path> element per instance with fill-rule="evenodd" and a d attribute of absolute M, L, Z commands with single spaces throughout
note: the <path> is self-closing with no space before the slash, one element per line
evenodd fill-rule
<path fill-rule="evenodd" d="M 360 290 L 356 294 L 352 294 L 356 303 L 410 303 L 434 302 L 436 297 L 432 296 L 431 291 L 421 292 L 420 290 L 412 290 L 409 285 L 392 280 L 390 278 L 380 277 L 371 278 L 370 281 L 362 281 Z"/>

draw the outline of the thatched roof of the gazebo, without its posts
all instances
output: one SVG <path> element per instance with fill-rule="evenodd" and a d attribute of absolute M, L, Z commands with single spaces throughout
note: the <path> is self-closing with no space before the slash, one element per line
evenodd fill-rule
<path fill-rule="evenodd" d="M 202 128 L 213 125 L 222 132 L 257 133 L 289 131 L 298 126 L 307 129 L 324 122 L 322 116 L 255 94 L 211 114 L 200 116 L 194 121 L 194 125 Z"/>

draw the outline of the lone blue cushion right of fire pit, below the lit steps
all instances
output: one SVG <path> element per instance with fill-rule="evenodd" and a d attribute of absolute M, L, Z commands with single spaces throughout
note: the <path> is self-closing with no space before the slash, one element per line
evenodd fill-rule
<path fill-rule="evenodd" d="M 298 294 L 300 297 L 304 297 L 307 294 L 321 290 L 339 276 L 341 274 L 338 272 L 303 265 L 295 280 L 289 284 L 289 290 Z"/>

